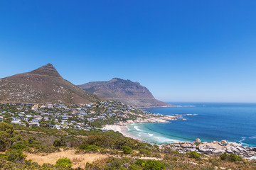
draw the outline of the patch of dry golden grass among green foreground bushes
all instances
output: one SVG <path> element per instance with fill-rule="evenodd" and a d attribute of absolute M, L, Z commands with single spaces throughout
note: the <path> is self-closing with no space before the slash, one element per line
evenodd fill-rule
<path fill-rule="evenodd" d="M 46 164 L 55 164 L 55 162 L 58 159 L 61 158 L 68 158 L 71 160 L 73 164 L 73 168 L 78 168 L 78 167 L 85 167 L 86 163 L 92 163 L 95 162 L 99 159 L 105 159 L 107 158 L 107 154 L 75 154 L 75 150 L 66 150 L 66 151 L 61 151 L 61 152 L 55 152 L 51 154 L 29 154 L 25 153 L 28 155 L 26 159 L 32 159 L 33 162 L 37 162 L 40 165 L 43 165 L 44 163 Z"/>

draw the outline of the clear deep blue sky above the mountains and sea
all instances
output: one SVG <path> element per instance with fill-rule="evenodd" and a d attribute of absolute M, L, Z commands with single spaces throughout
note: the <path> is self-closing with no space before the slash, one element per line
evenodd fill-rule
<path fill-rule="evenodd" d="M 0 77 L 139 81 L 162 101 L 256 102 L 255 0 L 0 1 Z"/>

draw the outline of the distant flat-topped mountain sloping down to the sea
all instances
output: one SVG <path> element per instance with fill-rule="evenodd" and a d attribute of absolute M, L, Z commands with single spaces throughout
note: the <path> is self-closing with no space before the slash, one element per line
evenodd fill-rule
<path fill-rule="evenodd" d="M 149 89 L 146 89 L 146 87 L 140 85 L 138 82 L 130 80 L 114 78 L 110 81 L 89 82 L 78 85 L 78 87 L 97 96 L 122 101 L 130 106 L 141 108 L 172 106 L 156 100 Z"/>

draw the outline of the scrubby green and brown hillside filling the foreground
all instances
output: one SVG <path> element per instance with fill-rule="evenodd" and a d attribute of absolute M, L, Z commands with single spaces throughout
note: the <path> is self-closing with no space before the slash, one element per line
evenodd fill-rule
<path fill-rule="evenodd" d="M 0 123 L 0 169 L 256 169 L 235 154 L 179 154 L 119 132 Z"/>

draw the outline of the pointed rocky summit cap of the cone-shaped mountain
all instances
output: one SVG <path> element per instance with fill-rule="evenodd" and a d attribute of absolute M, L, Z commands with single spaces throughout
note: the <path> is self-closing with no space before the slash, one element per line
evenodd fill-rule
<path fill-rule="evenodd" d="M 55 69 L 55 67 L 53 67 L 53 64 L 50 63 L 42 67 L 39 67 L 38 69 L 35 69 L 32 72 L 29 72 L 29 74 L 41 74 L 50 77 L 60 77 L 58 71 Z"/>

